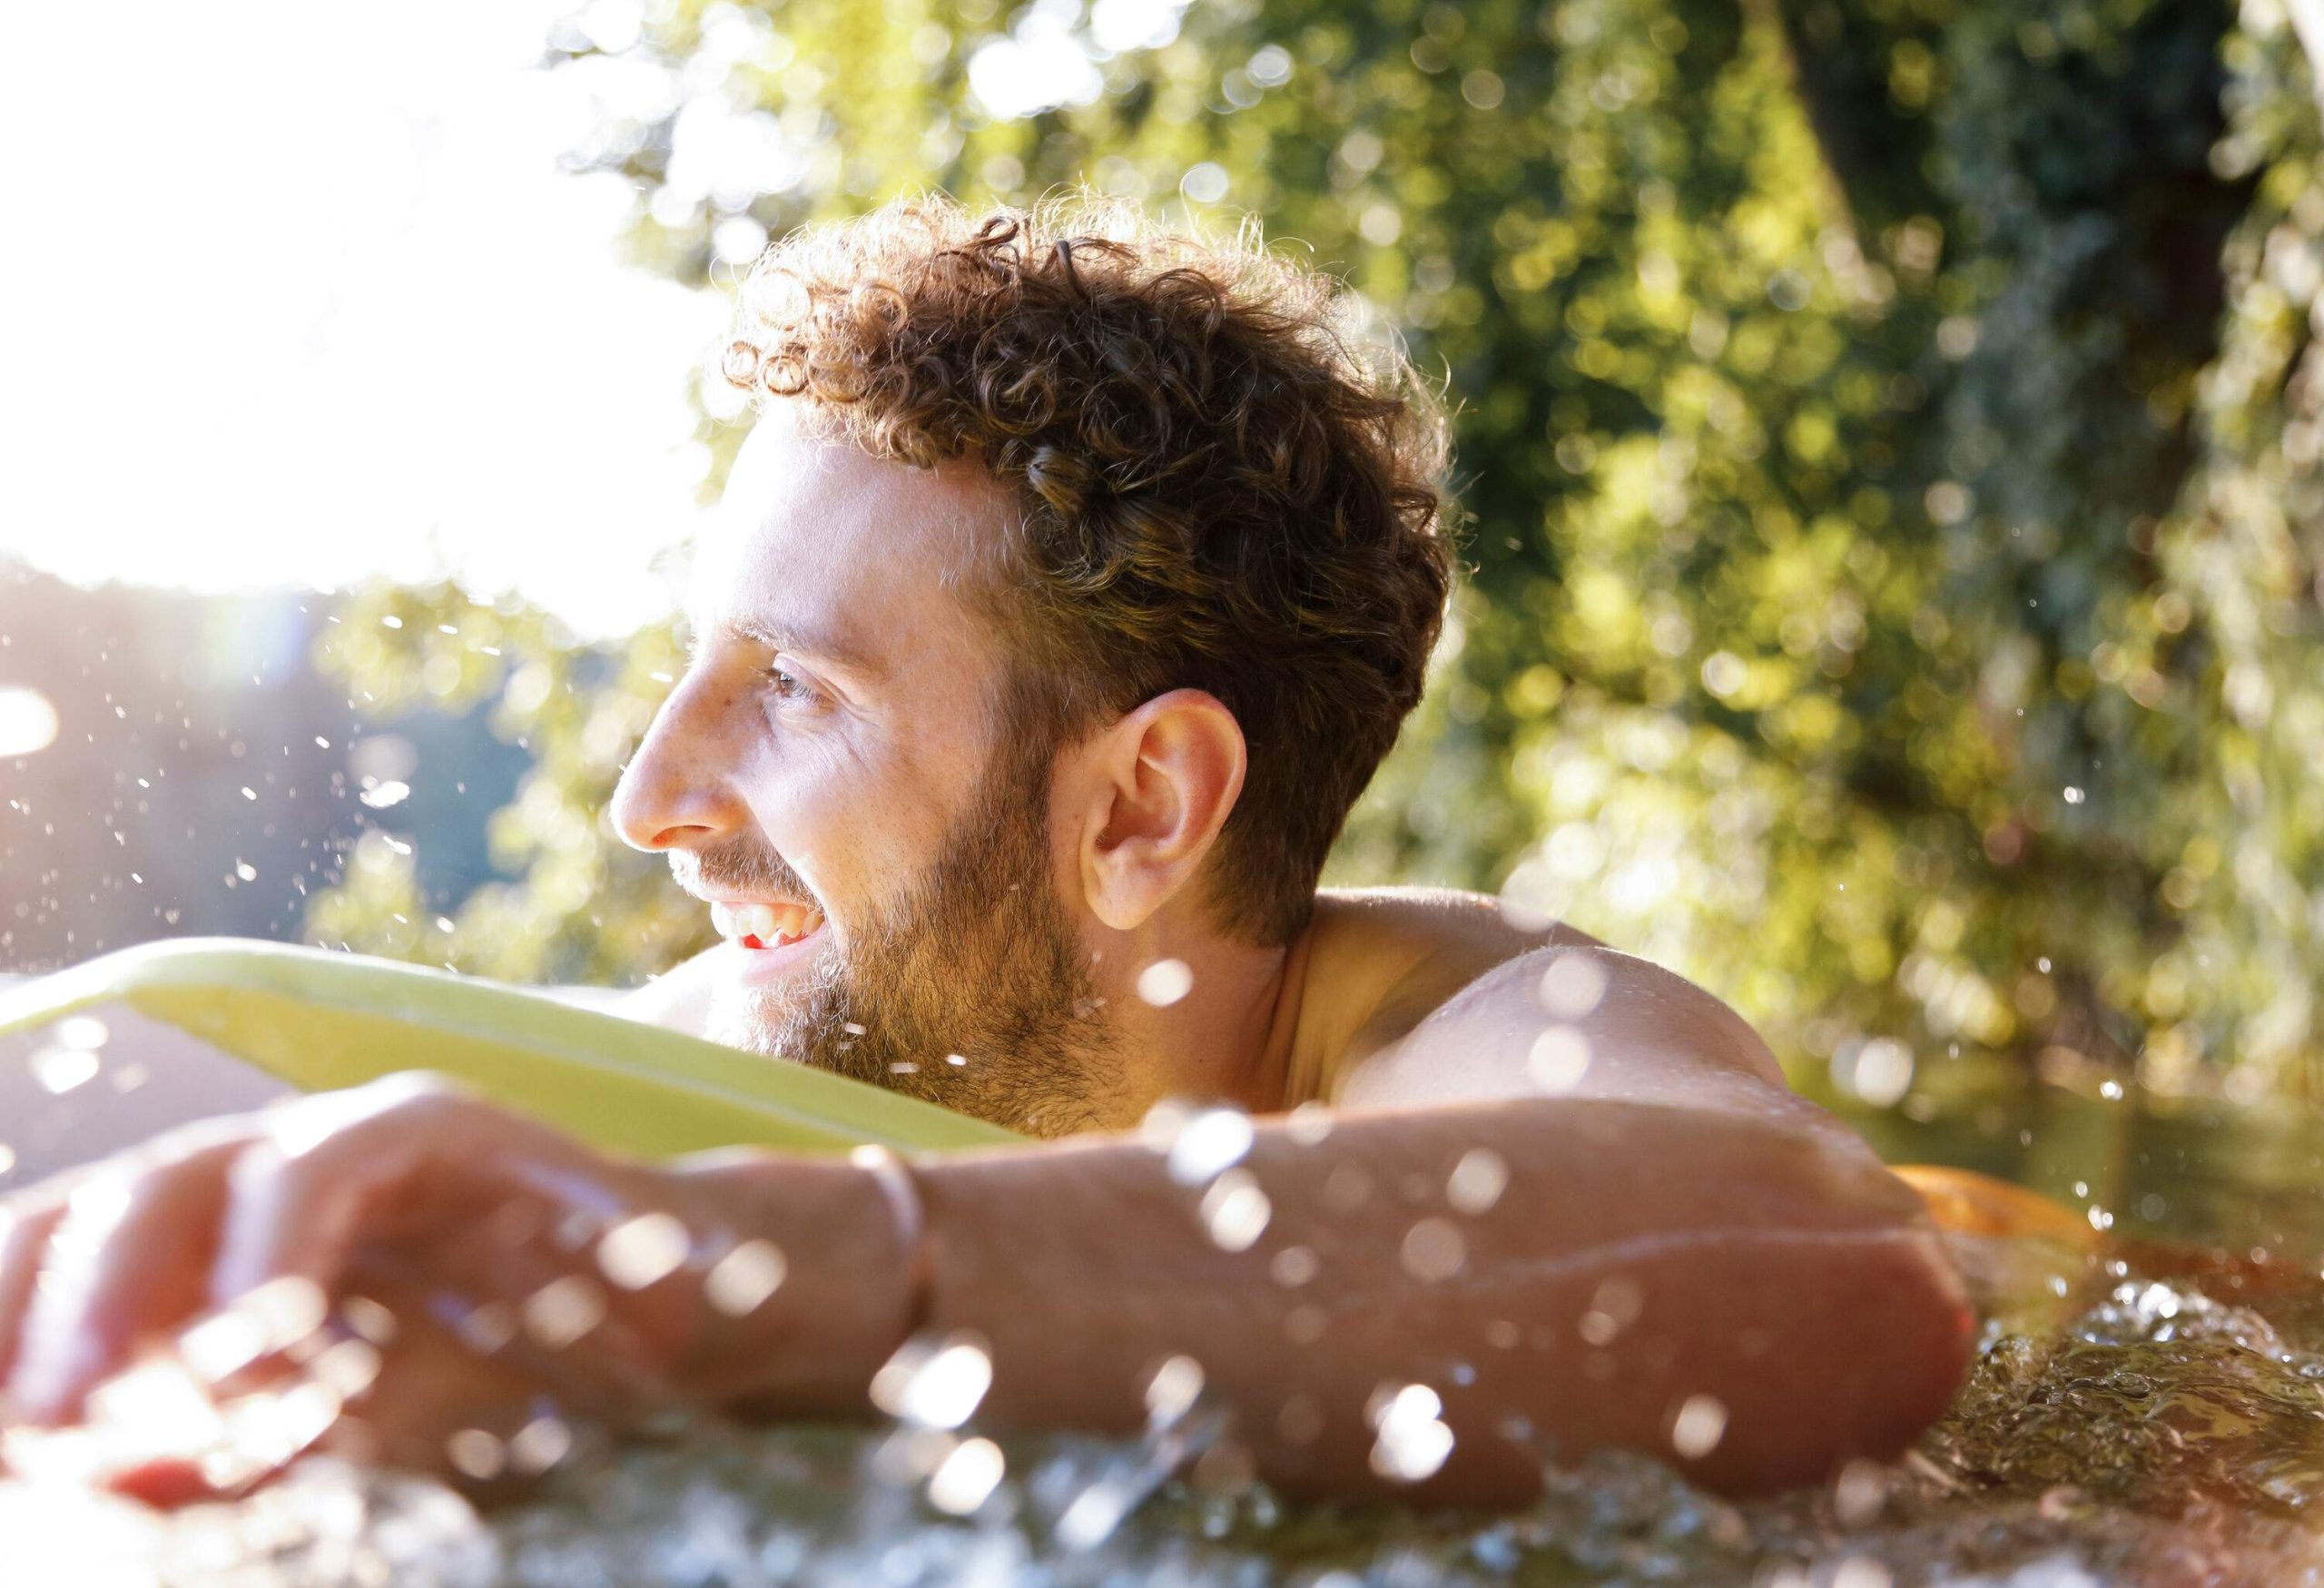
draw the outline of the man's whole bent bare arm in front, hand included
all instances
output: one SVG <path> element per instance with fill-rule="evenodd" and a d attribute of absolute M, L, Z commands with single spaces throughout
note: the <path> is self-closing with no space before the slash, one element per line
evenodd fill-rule
<path fill-rule="evenodd" d="M 109 1165 L 119 1197 L 81 1214 L 70 1188 L 14 1200 L 0 1374 L 16 1358 L 19 1407 L 72 1416 L 81 1388 L 205 1300 L 274 1272 L 344 1295 L 376 1283 L 365 1265 L 383 1258 L 407 1293 L 523 1314 L 562 1265 L 593 1267 L 588 1246 L 497 1253 L 486 1237 L 516 1202 L 525 1230 L 669 1211 L 711 1249 L 772 1242 L 788 1260 L 739 1321 L 702 1307 L 700 1274 L 607 1293 L 604 1328 L 555 1374 L 567 1390 L 602 1372 L 588 1351 L 609 1339 L 618 1351 L 597 1360 L 676 1393 L 862 1409 L 920 1314 L 985 1342 L 995 1425 L 1129 1430 L 1153 1369 L 1183 1355 L 1260 1472 L 1301 1493 L 1411 1479 L 1425 1500 L 1501 1502 L 1532 1493 L 1543 1453 L 1599 1444 L 1762 1488 L 1901 1446 L 1952 1393 L 1971 1323 L 1910 1193 L 1731 1056 L 1673 1049 L 1708 1076 L 1692 1095 L 1527 1093 L 1515 1076 L 1538 1076 L 1511 997 L 1536 995 L 1532 970 L 1480 981 L 1360 1076 L 1418 1088 L 1476 1063 L 1501 1090 L 1350 1107 L 1322 1132 L 1313 1116 L 1264 1118 L 1215 1174 L 1190 1174 L 1188 1153 L 1174 1174 L 1127 1137 L 918 1165 L 918 1295 L 867 1169 L 753 1153 L 616 1165 L 458 1095 L 307 1100 Z M 1631 1086 L 1615 1025 L 1597 1032 L 1608 1056 L 1585 1081 Z M 1476 1044 L 1501 1058 L 1476 1060 Z M 425 1423 L 451 1404 L 432 1393 L 451 1372 L 442 1351 L 390 1358 L 351 1409 L 388 1430 L 386 1448 L 442 1448 L 451 1430 L 430 1444 Z M 514 1404 L 532 1386 L 511 1367 Z M 1420 1390 L 1394 1400 L 1406 1386 Z M 472 1418 L 472 1402 L 453 1411 Z M 1385 1442 L 1383 1404 L 1399 1407 Z"/>

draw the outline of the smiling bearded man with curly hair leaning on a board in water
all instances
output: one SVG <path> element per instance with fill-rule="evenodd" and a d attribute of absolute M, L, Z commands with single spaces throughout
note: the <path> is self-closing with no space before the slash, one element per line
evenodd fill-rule
<path fill-rule="evenodd" d="M 1961 1290 L 1741 1018 L 1487 900 L 1315 890 L 1448 584 L 1436 416 L 1346 307 L 1090 205 L 892 205 L 744 291 L 762 416 L 614 804 L 725 944 L 637 1011 L 1048 1139 L 644 1167 L 435 1086 L 205 1125 L 12 1207 L 16 1416 L 172 1339 L 265 1381 L 328 1302 L 376 1349 L 337 1437 L 411 1462 L 541 1393 L 862 1414 L 906 1339 L 995 1430 L 1199 1383 L 1299 1493 L 1910 1439 Z"/>

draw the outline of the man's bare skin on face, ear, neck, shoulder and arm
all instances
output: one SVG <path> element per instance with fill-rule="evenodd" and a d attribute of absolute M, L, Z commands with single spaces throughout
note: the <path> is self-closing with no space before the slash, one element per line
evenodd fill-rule
<path fill-rule="evenodd" d="M 995 765 L 1006 658 L 971 600 L 1011 512 L 981 465 L 911 470 L 781 416 L 746 451 L 702 556 L 695 660 L 614 804 L 704 893 L 702 858 L 746 851 L 811 890 L 820 932 L 730 942 L 634 1000 L 727 1037 L 737 1011 L 781 1016 L 818 956 L 869 942 L 927 874 Z M 284 1274 L 409 1318 L 328 1442 L 411 1465 L 442 1465 L 462 1428 L 514 1432 L 541 1393 L 614 1421 L 672 1400 L 862 1416 L 916 1318 L 983 1342 L 988 1430 L 1132 1432 L 1155 1365 L 1190 1358 L 1253 1467 L 1315 1495 L 1515 1502 L 1543 1455 L 1599 1444 L 1771 1488 L 1894 1453 L 1945 1407 L 1971 1316 L 1917 1197 L 1785 1090 L 1738 1016 L 1457 893 L 1327 893 L 1299 942 L 1236 942 L 1204 863 L 1243 770 L 1232 714 L 1197 691 L 1057 751 L 1048 884 L 1102 997 L 1102 1042 L 1057 1060 L 1074 1095 L 1055 1107 L 1083 1130 L 918 1163 L 918 1258 L 876 1169 L 614 1163 L 402 1081 L 202 1125 L 9 1202 L 14 1414 L 72 1423 L 91 1386 Z M 1136 993 L 1157 960 L 1192 974 L 1162 1007 Z M 1287 1114 L 1313 1076 L 1339 1076 L 1332 1107 Z M 1236 1225 L 1215 1195 L 1204 1209 L 1208 1176 L 1171 1179 L 1136 1132 L 1164 1097 L 1257 1116 L 1239 1169 L 1262 1228 L 1248 1195 Z M 593 1232 L 641 1211 L 676 1214 L 700 1260 L 634 1290 L 593 1276 L 588 1328 L 544 1344 L 528 1304 L 590 1276 Z M 783 1279 L 730 1316 L 702 1269 L 739 1242 L 779 1249 Z M 479 1355 L 421 1316 L 442 1295 L 516 1318 L 514 1337 Z M 1367 1407 L 1413 1383 L 1450 1453 L 1399 1476 L 1411 1442 L 1383 1458 L 1397 1439 Z M 121 1481 L 202 1488 L 153 1460 Z"/>

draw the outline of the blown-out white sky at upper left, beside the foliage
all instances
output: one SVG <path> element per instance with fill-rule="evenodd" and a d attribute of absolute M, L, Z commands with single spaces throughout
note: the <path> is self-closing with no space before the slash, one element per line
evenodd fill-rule
<path fill-rule="evenodd" d="M 565 0 L 9 16 L 0 556 L 195 588 L 451 570 L 611 632 L 674 605 L 725 309 L 558 170 Z M 569 79 L 569 81 L 567 81 Z"/>

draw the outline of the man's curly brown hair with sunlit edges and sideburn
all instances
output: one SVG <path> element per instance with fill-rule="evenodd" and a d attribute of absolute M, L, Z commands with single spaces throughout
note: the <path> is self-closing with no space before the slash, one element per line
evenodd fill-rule
<path fill-rule="evenodd" d="M 1090 195 L 985 216 L 913 198 L 774 244 L 723 358 L 823 435 L 976 456 L 1016 488 L 990 581 L 1011 735 L 1064 744 L 1171 688 L 1234 714 L 1250 765 L 1211 902 L 1260 944 L 1306 928 L 1450 579 L 1441 412 L 1357 307 L 1248 230 L 1202 242 Z"/>

